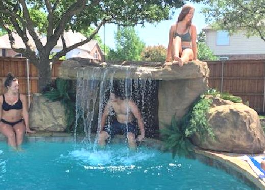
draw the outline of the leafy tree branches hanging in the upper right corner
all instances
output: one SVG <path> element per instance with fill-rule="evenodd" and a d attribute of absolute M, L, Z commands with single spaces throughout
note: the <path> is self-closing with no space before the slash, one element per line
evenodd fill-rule
<path fill-rule="evenodd" d="M 216 30 L 230 34 L 246 31 L 246 36 L 259 36 L 265 41 L 265 0 L 206 0 L 203 13 L 206 22 Z"/>

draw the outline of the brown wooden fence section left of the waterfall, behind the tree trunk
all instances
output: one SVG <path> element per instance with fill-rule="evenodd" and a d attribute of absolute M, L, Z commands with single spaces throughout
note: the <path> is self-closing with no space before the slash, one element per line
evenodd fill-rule
<path fill-rule="evenodd" d="M 61 61 L 53 64 L 52 79 L 58 76 L 58 67 Z M 11 72 L 19 80 L 19 92 L 28 94 L 27 82 L 27 59 L 26 58 L 13 58 L 13 57 L 0 57 L 0 94 L 5 91 L 4 82 L 7 74 Z M 39 92 L 38 90 L 38 69 L 32 63 L 29 63 L 29 81 L 30 81 L 30 96 L 32 93 Z"/>

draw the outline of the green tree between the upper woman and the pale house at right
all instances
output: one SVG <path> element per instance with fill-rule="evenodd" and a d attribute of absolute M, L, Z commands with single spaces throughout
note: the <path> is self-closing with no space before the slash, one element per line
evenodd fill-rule
<path fill-rule="evenodd" d="M 205 32 L 201 31 L 197 35 L 198 39 L 198 59 L 203 61 L 214 61 L 218 60 L 218 57 L 213 55 L 213 52 L 211 51 L 210 47 L 206 45 L 205 43 Z"/>

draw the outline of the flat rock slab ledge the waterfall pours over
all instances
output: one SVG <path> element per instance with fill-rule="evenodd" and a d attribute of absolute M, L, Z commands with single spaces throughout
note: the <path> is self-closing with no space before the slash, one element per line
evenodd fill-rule
<path fill-rule="evenodd" d="M 137 63 L 137 64 L 136 64 Z M 97 75 L 93 72 L 97 70 Z M 105 64 L 82 64 L 78 61 L 66 60 L 59 67 L 59 77 L 62 79 L 75 80 L 77 73 L 79 78 L 101 79 L 100 73 L 103 70 L 108 70 L 106 78 L 110 79 L 114 75 L 114 79 L 125 79 L 128 75 L 132 79 L 153 79 L 153 80 L 183 80 L 183 79 L 196 79 L 208 78 L 209 68 L 206 62 L 190 61 L 182 67 L 178 64 L 168 63 L 163 65 L 163 62 L 132 62 L 128 61 L 123 64 L 105 63 Z"/>

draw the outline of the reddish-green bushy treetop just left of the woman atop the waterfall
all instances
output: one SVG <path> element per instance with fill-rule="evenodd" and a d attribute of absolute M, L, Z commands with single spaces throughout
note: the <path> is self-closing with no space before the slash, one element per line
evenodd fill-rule
<path fill-rule="evenodd" d="M 165 61 L 166 48 L 163 45 L 147 46 L 141 53 L 144 61 Z"/>

